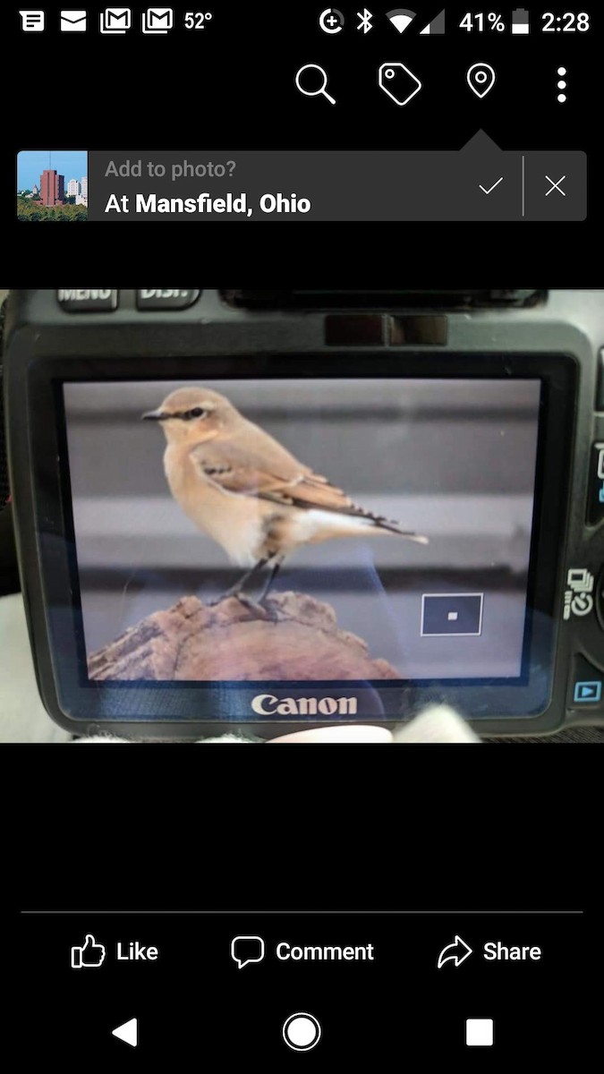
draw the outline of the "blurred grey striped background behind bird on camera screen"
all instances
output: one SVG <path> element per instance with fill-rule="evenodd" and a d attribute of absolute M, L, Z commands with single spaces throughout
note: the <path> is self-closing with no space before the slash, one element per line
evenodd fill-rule
<path fill-rule="evenodd" d="M 174 503 L 161 429 L 142 422 L 190 381 L 64 386 L 87 648 L 185 593 L 234 580 L 221 548 Z M 355 500 L 427 547 L 392 537 L 301 549 L 281 589 L 331 604 L 405 678 L 519 673 L 538 381 L 207 381 Z M 484 592 L 479 637 L 421 637 L 423 593 Z"/>

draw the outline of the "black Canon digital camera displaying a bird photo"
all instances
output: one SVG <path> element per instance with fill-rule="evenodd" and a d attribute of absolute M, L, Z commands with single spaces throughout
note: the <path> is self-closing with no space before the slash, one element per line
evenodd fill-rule
<path fill-rule="evenodd" d="M 59 724 L 604 721 L 604 292 L 9 302 L 19 569 Z"/>

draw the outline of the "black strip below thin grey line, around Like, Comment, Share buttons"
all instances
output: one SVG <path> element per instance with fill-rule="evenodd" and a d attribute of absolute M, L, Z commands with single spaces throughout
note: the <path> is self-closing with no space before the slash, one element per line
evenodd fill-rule
<path fill-rule="evenodd" d="M 213 1051 L 227 1066 L 246 1059 L 289 1069 L 300 1062 L 282 1040 L 294 1012 L 310 1012 L 322 1035 L 313 1068 L 339 1061 L 386 1059 L 461 1061 L 469 1070 L 505 1069 L 519 1055 L 543 1062 L 576 1056 L 578 1017 L 586 1003 L 571 987 L 566 1016 L 556 1007 L 583 976 L 583 916 L 420 914 L 168 914 L 20 918 L 20 948 L 38 963 L 30 1002 L 37 1033 L 26 1043 L 29 1062 L 94 1054 L 119 1070 L 159 1058 L 178 1062 Z M 105 946 L 100 967 L 73 970 L 70 948 L 86 933 Z M 459 934 L 472 949 L 464 962 L 436 968 L 438 953 Z M 236 935 L 262 937 L 263 961 L 238 969 L 230 957 Z M 116 961 L 116 945 L 155 945 L 157 961 Z M 483 946 L 497 942 L 538 946 L 540 961 L 489 961 Z M 278 961 L 290 946 L 373 944 L 373 961 Z M 40 955 L 43 953 L 43 958 Z M 69 1013 L 68 1013 L 69 1012 Z M 134 1053 L 111 1031 L 139 1019 Z M 492 1048 L 468 1048 L 465 1019 L 494 1021 Z M 594 1043 L 584 1026 L 581 1044 Z"/>

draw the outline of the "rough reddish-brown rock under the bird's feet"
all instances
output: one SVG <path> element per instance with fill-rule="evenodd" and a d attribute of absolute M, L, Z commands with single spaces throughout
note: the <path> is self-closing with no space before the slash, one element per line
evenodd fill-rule
<path fill-rule="evenodd" d="M 88 658 L 92 680 L 188 681 L 400 679 L 372 659 L 361 638 L 340 630 L 330 605 L 279 593 L 267 607 L 236 597 L 204 605 L 182 597 Z"/>

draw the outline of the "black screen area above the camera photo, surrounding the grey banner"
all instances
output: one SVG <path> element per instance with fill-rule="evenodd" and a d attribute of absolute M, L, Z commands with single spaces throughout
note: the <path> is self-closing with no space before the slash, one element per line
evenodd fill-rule
<path fill-rule="evenodd" d="M 386 5 L 369 4 L 374 28 L 364 35 L 356 29 L 363 5 L 342 2 L 347 20 L 334 38 L 318 27 L 320 3 L 207 4 L 201 10 L 214 18 L 201 31 L 184 30 L 191 4 L 178 5 L 176 28 L 157 38 L 140 33 L 140 6 L 132 8 L 134 28 L 124 37 L 101 37 L 100 9 L 90 6 L 87 33 L 60 33 L 58 5 L 44 6 L 44 33 L 23 33 L 16 10 L 6 19 L 5 47 L 19 73 L 4 116 L 0 192 L 18 286 L 56 286 L 59 276 L 81 282 L 83 266 L 88 278 L 111 277 L 118 285 L 126 274 L 128 281 L 139 274 L 144 282 L 153 268 L 175 279 L 181 273 L 188 282 L 203 282 L 211 273 L 221 286 L 283 285 L 284 271 L 288 282 L 313 287 L 602 284 L 594 258 L 602 223 L 596 4 L 574 8 L 591 6 L 588 32 L 546 34 L 541 15 L 552 5 L 524 4 L 532 12 L 528 38 L 508 29 L 460 30 L 468 8 L 485 8 L 469 4 L 446 5 L 444 37 L 418 37 L 442 2 L 416 3 L 418 16 L 402 35 L 386 19 Z M 555 11 L 561 15 L 570 6 Z M 486 8 L 509 21 L 512 5 Z M 404 108 L 376 84 L 378 66 L 397 59 L 423 83 Z M 465 83 L 468 68 L 478 61 L 498 72 L 481 101 Z M 293 75 L 307 62 L 325 66 L 336 106 L 296 89 Z M 556 100 L 560 64 L 569 72 L 564 105 Z M 192 231 L 186 222 L 153 221 L 124 222 L 119 232 L 89 222 L 63 229 L 58 242 L 52 229 L 26 228 L 14 217 L 17 149 L 459 149 L 480 128 L 505 149 L 587 150 L 588 220 L 559 227 L 271 222 L 261 230 L 232 221 L 198 223 Z"/>

